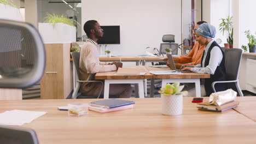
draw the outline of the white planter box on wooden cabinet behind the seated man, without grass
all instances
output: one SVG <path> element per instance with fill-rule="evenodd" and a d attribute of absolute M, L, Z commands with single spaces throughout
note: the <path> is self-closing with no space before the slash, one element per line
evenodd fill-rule
<path fill-rule="evenodd" d="M 38 30 L 44 44 L 65 44 L 76 41 L 75 27 L 64 23 L 38 23 Z"/>

